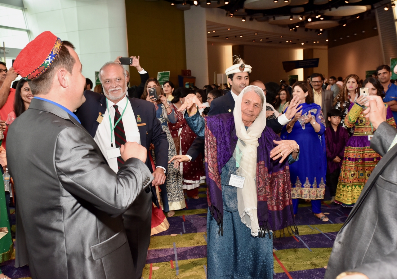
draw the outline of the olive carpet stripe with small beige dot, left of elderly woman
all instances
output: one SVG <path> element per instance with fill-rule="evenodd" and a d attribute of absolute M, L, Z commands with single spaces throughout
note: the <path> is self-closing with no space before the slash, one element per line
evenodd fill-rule
<path fill-rule="evenodd" d="M 204 237 L 202 237 L 202 235 L 204 234 L 205 233 L 185 233 L 183 235 L 176 235 L 174 237 L 172 237 L 171 235 L 159 235 L 157 237 L 150 237 L 149 250 L 172 248 L 173 242 L 176 243 L 177 248 L 207 245 Z"/>

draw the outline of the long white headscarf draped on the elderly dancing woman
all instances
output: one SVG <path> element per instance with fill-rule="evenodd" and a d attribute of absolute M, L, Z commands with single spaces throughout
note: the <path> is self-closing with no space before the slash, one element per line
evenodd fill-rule
<path fill-rule="evenodd" d="M 243 120 L 241 120 L 241 102 L 245 92 L 251 92 L 253 89 L 259 89 L 263 94 L 264 103 L 262 111 L 255 119 L 254 123 L 246 130 Z M 239 140 L 233 153 L 240 167 L 237 175 L 245 177 L 244 187 L 237 188 L 237 207 L 243 222 L 251 229 L 251 235 L 258 236 L 259 223 L 257 215 L 258 196 L 256 192 L 256 148 L 259 146 L 258 139 L 261 137 L 266 126 L 266 96 L 260 87 L 250 85 L 245 87 L 237 97 L 233 111 L 236 134 Z M 241 160 L 238 154 L 241 153 Z M 240 161 L 240 162 L 238 162 Z"/>

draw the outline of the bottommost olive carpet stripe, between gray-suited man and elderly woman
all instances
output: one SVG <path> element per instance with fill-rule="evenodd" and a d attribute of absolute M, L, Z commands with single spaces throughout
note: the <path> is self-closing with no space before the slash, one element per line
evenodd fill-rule
<path fill-rule="evenodd" d="M 204 264 L 207 265 L 207 258 L 198 258 L 192 260 L 178 260 L 179 275 L 176 276 L 175 262 L 174 268 L 171 269 L 170 262 L 160 262 L 153 264 L 153 267 L 160 267 L 152 271 L 152 279 L 202 279 L 205 278 Z M 142 276 L 149 277 L 150 264 L 146 264 Z"/>

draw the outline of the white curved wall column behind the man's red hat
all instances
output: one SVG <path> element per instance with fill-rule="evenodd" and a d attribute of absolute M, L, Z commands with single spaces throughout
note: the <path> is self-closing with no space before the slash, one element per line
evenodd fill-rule
<path fill-rule="evenodd" d="M 70 41 L 83 64 L 83 75 L 94 86 L 95 71 L 117 56 L 128 55 L 124 0 L 23 0 L 23 4 L 31 39 L 51 31 Z"/>

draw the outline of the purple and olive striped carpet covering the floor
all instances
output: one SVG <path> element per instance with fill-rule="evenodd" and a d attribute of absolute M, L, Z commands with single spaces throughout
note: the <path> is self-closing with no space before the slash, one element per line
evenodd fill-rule
<path fill-rule="evenodd" d="M 143 279 L 206 279 L 206 186 L 199 199 L 186 197 L 187 208 L 168 218 L 170 228 L 152 236 L 143 270 Z M 326 191 L 326 195 L 328 191 Z M 296 222 L 299 236 L 274 239 L 274 279 L 322 279 L 337 232 L 351 209 L 322 203 L 330 221 L 323 222 L 311 212 L 310 203 L 301 200 Z M 12 209 L 12 213 L 15 210 Z M 15 214 L 12 214 L 15 231 Z M 13 279 L 30 278 L 29 267 L 15 268 L 14 257 L 0 264 L 4 274 Z"/>

